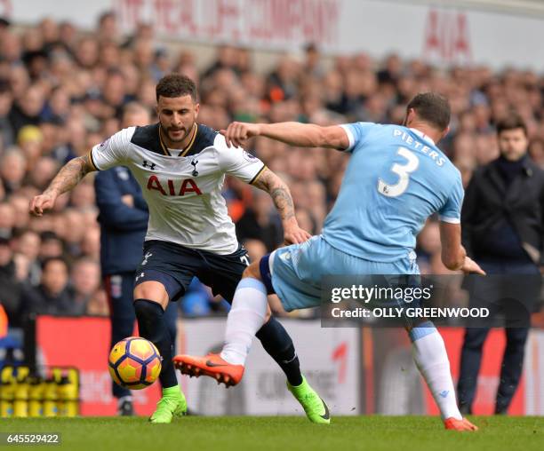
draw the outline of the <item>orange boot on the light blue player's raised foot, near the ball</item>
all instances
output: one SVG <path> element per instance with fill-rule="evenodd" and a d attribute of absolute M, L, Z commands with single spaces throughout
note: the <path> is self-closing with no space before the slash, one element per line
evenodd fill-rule
<path fill-rule="evenodd" d="M 218 384 L 225 384 L 227 388 L 238 384 L 244 376 L 244 365 L 232 365 L 221 359 L 220 354 L 208 354 L 204 357 L 180 354 L 172 361 L 182 375 L 210 376 Z"/>

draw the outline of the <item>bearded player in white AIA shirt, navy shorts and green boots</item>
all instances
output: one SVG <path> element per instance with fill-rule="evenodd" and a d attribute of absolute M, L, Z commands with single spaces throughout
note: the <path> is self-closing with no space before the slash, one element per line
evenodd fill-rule
<path fill-rule="evenodd" d="M 118 131 L 89 154 L 71 160 L 44 193 L 30 202 L 29 209 L 42 216 L 60 194 L 93 170 L 126 166 L 138 180 L 148 202 L 149 222 L 136 271 L 134 309 L 140 336 L 156 344 L 163 357 L 159 376 L 163 397 L 150 421 L 171 423 L 174 416 L 185 415 L 187 402 L 172 365 L 172 338 L 164 323 L 164 309 L 183 296 L 195 276 L 232 302 L 249 265 L 221 195 L 225 175 L 270 194 L 287 243 L 306 241 L 310 235 L 298 226 L 289 188 L 281 178 L 242 148 L 229 148 L 220 133 L 196 123 L 199 104 L 191 79 L 164 76 L 156 85 L 156 99 L 158 123 Z M 324 401 L 301 375 L 291 337 L 269 311 L 268 318 L 256 336 L 284 370 L 287 387 L 310 421 L 328 423 L 328 415 L 314 415 L 323 412 Z"/>

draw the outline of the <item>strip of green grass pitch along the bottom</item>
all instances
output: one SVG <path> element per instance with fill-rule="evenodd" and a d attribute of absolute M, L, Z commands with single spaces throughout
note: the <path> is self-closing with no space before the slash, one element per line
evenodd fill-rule
<path fill-rule="evenodd" d="M 61 445 L 49 449 L 76 451 L 544 450 L 543 417 L 474 417 L 473 422 L 480 431 L 444 431 L 439 419 L 429 416 L 343 416 L 330 426 L 300 416 L 187 416 L 172 424 L 149 424 L 143 417 L 13 418 L 0 419 L 0 432 L 60 432 Z"/>

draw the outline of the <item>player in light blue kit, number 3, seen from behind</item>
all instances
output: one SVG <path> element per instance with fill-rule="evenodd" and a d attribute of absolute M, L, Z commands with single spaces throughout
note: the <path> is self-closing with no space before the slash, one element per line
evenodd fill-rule
<path fill-rule="evenodd" d="M 176 359 L 197 368 L 197 374 L 236 384 L 243 375 L 252 336 L 267 318 L 268 293 L 276 292 L 285 310 L 292 311 L 321 304 L 324 275 L 418 274 L 416 236 L 434 213 L 440 218 L 444 265 L 453 271 L 484 274 L 460 244 L 460 172 L 436 146 L 449 122 L 447 99 L 427 92 L 409 103 L 404 126 L 229 125 L 224 134 L 235 146 L 246 138 L 265 136 L 292 146 L 343 150 L 351 159 L 323 233 L 277 249 L 247 268 L 228 314 L 220 355 Z M 415 363 L 446 429 L 476 431 L 457 407 L 442 336 L 430 321 L 407 329 Z"/>

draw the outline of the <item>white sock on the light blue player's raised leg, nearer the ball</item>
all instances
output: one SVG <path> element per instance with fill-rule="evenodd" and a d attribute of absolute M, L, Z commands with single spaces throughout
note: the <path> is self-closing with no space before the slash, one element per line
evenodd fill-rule
<path fill-rule="evenodd" d="M 228 313 L 221 359 L 233 365 L 244 365 L 252 347 L 253 336 L 265 322 L 267 308 L 267 289 L 264 284 L 252 277 L 242 279 Z"/>

